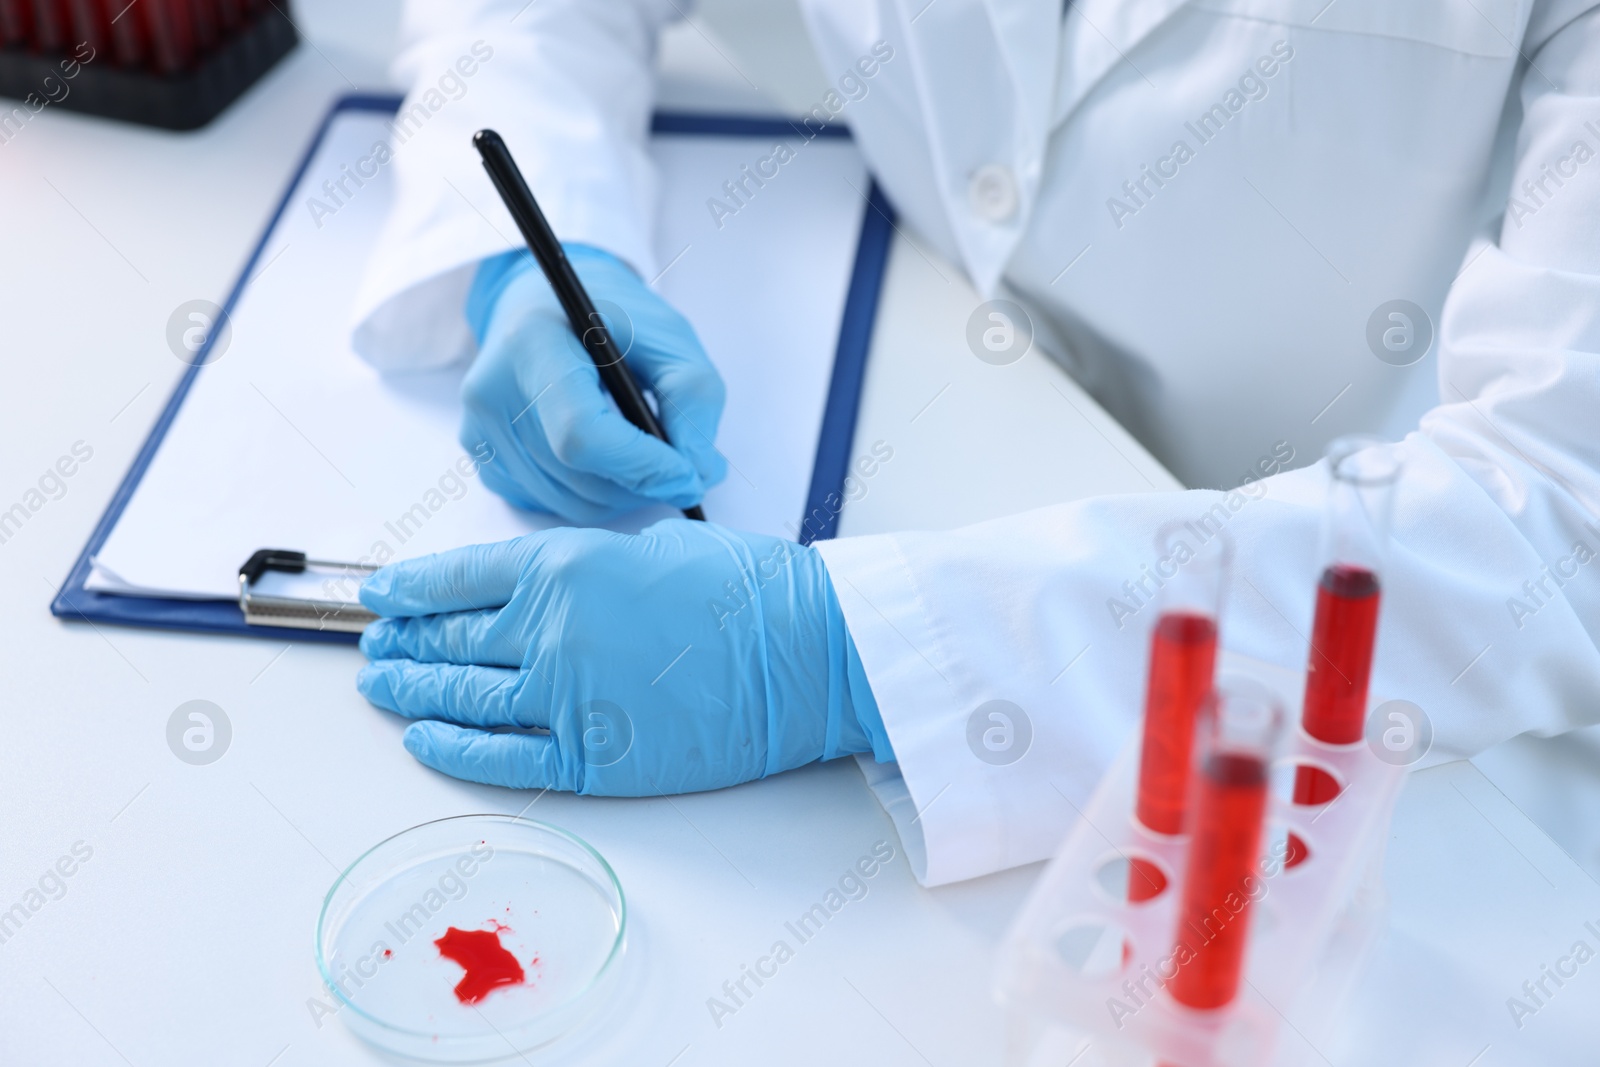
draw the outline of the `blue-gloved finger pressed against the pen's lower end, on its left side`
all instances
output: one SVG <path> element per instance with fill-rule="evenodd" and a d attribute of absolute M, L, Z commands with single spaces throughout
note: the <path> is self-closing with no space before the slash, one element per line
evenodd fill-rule
<path fill-rule="evenodd" d="M 554 379 L 539 413 L 550 451 L 563 466 L 677 507 L 696 504 L 706 493 L 683 453 L 622 418 L 592 365 Z"/>

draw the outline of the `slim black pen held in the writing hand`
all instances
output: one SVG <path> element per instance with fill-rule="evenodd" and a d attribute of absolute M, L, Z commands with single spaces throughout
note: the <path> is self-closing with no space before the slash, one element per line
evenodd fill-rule
<path fill-rule="evenodd" d="M 472 144 L 478 149 L 478 155 L 483 157 L 483 170 L 490 173 L 490 181 L 494 182 L 496 192 L 506 202 L 510 218 L 517 221 L 517 229 L 522 230 L 523 240 L 528 242 L 528 250 L 539 261 L 539 269 L 544 270 L 550 288 L 555 290 L 555 298 L 562 301 L 566 322 L 571 323 L 573 333 L 578 334 L 584 350 L 589 352 L 589 358 L 595 362 L 600 381 L 611 394 L 622 418 L 651 437 L 672 445 L 672 438 L 667 437 L 661 421 L 656 419 L 656 413 L 645 403 L 645 394 L 640 390 L 638 382 L 634 381 L 634 374 L 622 363 L 622 354 L 616 350 L 611 331 L 605 328 L 605 320 L 600 318 L 594 301 L 584 291 L 584 283 L 578 280 L 578 272 L 573 270 L 566 253 L 562 251 L 562 243 L 555 240 L 550 224 L 544 221 L 539 202 L 533 198 L 533 190 L 528 189 L 522 171 L 517 170 L 517 162 L 510 158 L 510 149 L 506 147 L 506 142 L 493 130 L 478 130 L 472 134 Z M 683 515 L 686 518 L 706 518 L 706 512 L 701 510 L 699 504 L 685 507 Z"/>

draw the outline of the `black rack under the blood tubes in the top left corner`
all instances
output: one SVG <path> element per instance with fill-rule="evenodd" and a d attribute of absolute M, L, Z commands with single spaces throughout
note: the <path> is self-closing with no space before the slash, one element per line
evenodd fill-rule
<path fill-rule="evenodd" d="M 248 90 L 256 78 L 286 56 L 299 40 L 290 16 L 270 5 L 259 11 L 254 22 L 242 29 L 216 51 L 202 59 L 194 70 L 179 75 L 160 75 L 142 69 L 115 67 L 110 50 L 82 64 L 77 77 L 66 80 L 61 62 L 67 56 L 35 54 L 22 48 L 0 48 L 0 96 L 13 99 L 48 99 L 59 94 L 59 85 L 67 94 L 51 101 L 50 107 L 104 115 L 123 122 L 138 122 L 163 130 L 197 130 Z M 45 91 L 45 78 L 51 93 Z M 10 107 L 0 104 L 0 118 Z M 5 130 L 0 128 L 0 133 Z"/>

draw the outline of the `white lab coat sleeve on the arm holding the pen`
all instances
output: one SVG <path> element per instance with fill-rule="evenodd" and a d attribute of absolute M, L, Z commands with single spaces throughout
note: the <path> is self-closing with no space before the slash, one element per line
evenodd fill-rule
<path fill-rule="evenodd" d="M 394 203 L 357 296 L 352 346 L 382 370 L 474 354 L 462 304 L 477 264 L 520 246 L 472 133 L 506 138 L 562 240 L 654 274 L 646 154 L 672 0 L 408 0 L 386 138 Z M 470 74 L 469 74 L 470 72 Z"/>

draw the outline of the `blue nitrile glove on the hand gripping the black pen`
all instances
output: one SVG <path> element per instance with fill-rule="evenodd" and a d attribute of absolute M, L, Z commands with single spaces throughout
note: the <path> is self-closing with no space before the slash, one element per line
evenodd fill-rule
<path fill-rule="evenodd" d="M 723 386 L 688 320 L 610 253 L 565 245 L 667 446 L 622 418 L 526 251 L 486 259 L 467 296 L 478 357 L 461 443 L 494 450 L 483 483 L 518 507 L 598 523 L 643 504 L 699 504 L 728 464 L 714 448 Z"/>

